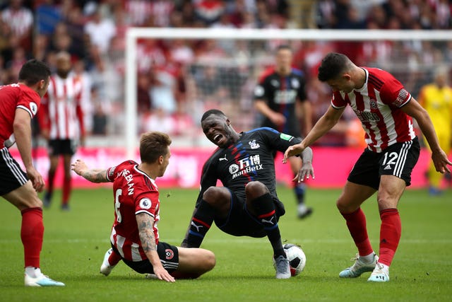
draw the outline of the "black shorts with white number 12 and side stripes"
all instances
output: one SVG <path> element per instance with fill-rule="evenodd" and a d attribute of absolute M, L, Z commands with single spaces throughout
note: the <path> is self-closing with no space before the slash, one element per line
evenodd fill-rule
<path fill-rule="evenodd" d="M 417 137 L 412 141 L 388 146 L 381 153 L 365 149 L 359 156 L 347 180 L 379 190 L 381 175 L 394 175 L 411 184 L 411 172 L 419 159 L 420 145 Z"/>

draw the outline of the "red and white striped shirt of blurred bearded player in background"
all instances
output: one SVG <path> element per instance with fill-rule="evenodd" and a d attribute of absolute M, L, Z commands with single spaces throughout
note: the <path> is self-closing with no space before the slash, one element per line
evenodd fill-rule
<path fill-rule="evenodd" d="M 81 93 L 81 81 L 72 74 L 66 79 L 57 74 L 50 77 L 39 112 L 40 126 L 49 131 L 50 139 L 77 139 L 85 134 Z"/>

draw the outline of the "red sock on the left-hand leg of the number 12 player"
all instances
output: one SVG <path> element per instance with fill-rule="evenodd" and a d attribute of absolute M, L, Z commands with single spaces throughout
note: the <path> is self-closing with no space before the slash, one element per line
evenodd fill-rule
<path fill-rule="evenodd" d="M 369 255 L 374 250 L 372 249 L 367 236 L 366 216 L 361 208 L 348 214 L 341 213 L 347 222 L 348 231 L 355 241 L 360 256 Z"/>

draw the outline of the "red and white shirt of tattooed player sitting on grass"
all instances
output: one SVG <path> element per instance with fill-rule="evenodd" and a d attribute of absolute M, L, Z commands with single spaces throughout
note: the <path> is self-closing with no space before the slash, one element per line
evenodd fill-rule
<path fill-rule="evenodd" d="M 159 234 L 160 200 L 157 185 L 152 178 L 138 169 L 138 163 L 124 161 L 107 170 L 107 179 L 113 182 L 114 223 L 110 241 L 121 257 L 130 261 L 146 260 L 141 247 L 136 215 L 149 214 L 154 219 L 155 244 Z"/>

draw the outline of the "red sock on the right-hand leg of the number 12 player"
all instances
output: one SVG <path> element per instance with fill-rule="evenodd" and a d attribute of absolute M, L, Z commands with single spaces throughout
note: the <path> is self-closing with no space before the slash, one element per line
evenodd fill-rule
<path fill-rule="evenodd" d="M 390 266 L 402 235 L 402 223 L 397 209 L 384 209 L 380 212 L 380 218 L 379 262 Z"/>

